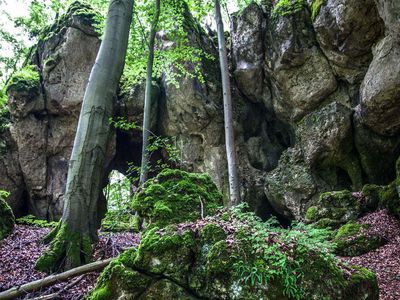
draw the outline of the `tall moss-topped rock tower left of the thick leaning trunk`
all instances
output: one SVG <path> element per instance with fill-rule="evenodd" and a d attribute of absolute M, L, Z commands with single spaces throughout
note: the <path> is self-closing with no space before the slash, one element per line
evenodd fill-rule
<path fill-rule="evenodd" d="M 17 155 L 13 155 L 16 166 L 7 169 L 16 173 L 13 177 L 19 192 L 10 189 L 16 212 L 24 205 L 25 211 L 41 218 L 57 219 L 62 214 L 80 107 L 100 45 L 93 27 L 96 20 L 90 6 L 74 2 L 41 37 L 32 56 L 33 66 L 10 80 L 10 132 Z M 8 148 L 8 155 L 11 150 Z M 0 161 L 10 165 L 6 159 Z M 19 168 L 25 187 L 18 183 Z M 7 182 L 0 181 L 0 186 L 8 188 Z"/>

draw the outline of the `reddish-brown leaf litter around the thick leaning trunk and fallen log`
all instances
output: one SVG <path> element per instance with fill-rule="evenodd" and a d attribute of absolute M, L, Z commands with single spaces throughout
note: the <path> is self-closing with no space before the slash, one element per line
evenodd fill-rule
<path fill-rule="evenodd" d="M 34 269 L 35 262 L 46 249 L 42 238 L 50 228 L 17 225 L 14 233 L 0 242 L 0 292 L 48 276 Z M 118 256 L 123 250 L 139 244 L 139 235 L 132 233 L 101 233 L 94 247 L 94 259 Z M 99 276 L 92 272 L 61 282 L 18 299 L 82 299 Z M 51 298 L 46 295 L 52 294 Z"/>

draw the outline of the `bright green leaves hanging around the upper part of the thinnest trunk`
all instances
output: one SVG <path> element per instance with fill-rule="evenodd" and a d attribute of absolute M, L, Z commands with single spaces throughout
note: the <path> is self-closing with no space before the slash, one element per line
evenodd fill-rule
<path fill-rule="evenodd" d="M 189 8 L 194 7 L 192 1 Z M 208 6 L 199 6 L 197 16 L 203 16 Z M 146 76 L 148 59 L 148 39 L 154 15 L 152 1 L 136 1 L 132 20 L 131 37 L 126 55 L 126 65 L 122 77 L 123 90 L 129 90 Z M 178 78 L 188 76 L 204 82 L 201 72 L 203 60 L 214 58 L 202 49 L 193 47 L 189 40 L 189 31 L 193 31 L 193 22 L 188 5 L 184 1 L 161 1 L 161 14 L 158 30 L 162 38 L 156 40 L 154 51 L 153 78 L 165 75 L 169 84 L 178 87 Z"/>

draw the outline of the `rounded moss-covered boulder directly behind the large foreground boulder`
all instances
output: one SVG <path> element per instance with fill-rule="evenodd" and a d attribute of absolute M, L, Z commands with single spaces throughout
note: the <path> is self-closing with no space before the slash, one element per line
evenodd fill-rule
<path fill-rule="evenodd" d="M 166 169 L 148 180 L 133 198 L 133 208 L 148 225 L 194 221 L 215 213 L 222 195 L 208 174 Z"/>

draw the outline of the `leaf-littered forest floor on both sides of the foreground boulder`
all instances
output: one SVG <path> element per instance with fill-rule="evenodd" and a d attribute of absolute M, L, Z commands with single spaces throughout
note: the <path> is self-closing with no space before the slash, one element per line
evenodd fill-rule
<path fill-rule="evenodd" d="M 369 268 L 377 274 L 380 300 L 400 299 L 400 223 L 385 211 L 366 215 L 358 222 L 370 224 L 370 233 L 383 235 L 388 243 L 367 254 L 341 259 L 351 265 Z M 0 291 L 47 276 L 36 271 L 34 265 L 46 249 L 40 241 L 49 231 L 48 228 L 17 225 L 14 233 L 0 243 Z M 124 249 L 138 243 L 137 234 L 101 234 L 100 241 L 94 248 L 94 258 L 99 260 L 115 257 Z M 85 274 L 19 299 L 82 299 L 94 287 L 98 275 Z M 56 296 L 45 297 L 50 294 Z"/>

